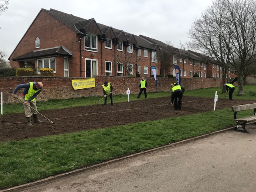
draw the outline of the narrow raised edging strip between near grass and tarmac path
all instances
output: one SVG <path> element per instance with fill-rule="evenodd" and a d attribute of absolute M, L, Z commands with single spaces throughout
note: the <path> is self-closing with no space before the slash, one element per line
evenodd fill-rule
<path fill-rule="evenodd" d="M 108 164 L 112 164 L 114 162 L 118 162 L 118 161 L 125 160 L 125 159 L 128 159 L 128 158 L 136 157 L 136 156 L 139 156 L 139 155 L 142 155 L 142 154 L 152 153 L 152 152 L 156 152 L 156 151 L 159 151 L 159 150 L 164 150 L 166 148 L 171 148 L 171 147 L 174 147 L 174 146 L 178 146 L 180 144 L 185 144 L 185 143 L 188 143 L 188 142 L 192 142 L 192 141 L 195 141 L 195 140 L 206 138 L 206 137 L 209 137 L 209 136 L 212 136 L 212 135 L 215 135 L 215 134 L 226 132 L 228 130 L 231 130 L 232 128 L 235 128 L 235 127 L 218 130 L 218 131 L 215 131 L 215 132 L 212 132 L 212 133 L 208 133 L 208 134 L 204 134 L 204 135 L 197 136 L 197 137 L 194 137 L 194 138 L 189 138 L 189 139 L 186 139 L 186 140 L 178 141 L 178 142 L 171 143 L 171 144 L 168 144 L 168 145 L 165 145 L 165 146 L 161 146 L 161 147 L 153 148 L 153 149 L 150 149 L 150 150 L 138 152 L 138 153 L 135 153 L 135 154 L 130 154 L 130 155 L 127 155 L 127 156 L 123 156 L 123 157 L 120 157 L 120 158 L 108 160 L 106 162 L 102 162 L 102 163 L 95 164 L 95 165 L 92 165 L 92 166 L 72 170 L 72 171 L 65 172 L 65 173 L 62 173 L 62 174 L 58 174 L 58 175 L 55 175 L 55 176 L 50 176 L 48 178 L 44 178 L 44 179 L 37 180 L 37 181 L 34 181 L 34 182 L 30 182 L 30 183 L 22 184 L 22 185 L 19 185 L 19 186 L 15 186 L 15 187 L 7 188 L 7 189 L 4 189 L 4 190 L 0 190 L 0 192 L 18 192 L 20 190 L 24 190 L 24 189 L 32 187 L 32 186 L 50 183 L 50 182 L 53 182 L 54 180 L 57 180 L 57 179 L 67 178 L 67 177 L 70 177 L 72 175 L 79 174 L 81 172 L 85 172 L 85 171 L 88 171 L 88 170 L 92 170 L 92 169 L 95 169 L 95 168 L 100 168 L 102 166 L 106 166 Z"/>

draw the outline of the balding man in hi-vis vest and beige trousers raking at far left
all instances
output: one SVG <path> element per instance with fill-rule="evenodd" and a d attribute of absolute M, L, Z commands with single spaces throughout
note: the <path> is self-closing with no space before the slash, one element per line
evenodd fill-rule
<path fill-rule="evenodd" d="M 31 116 L 33 115 L 34 122 L 43 122 L 38 119 L 37 116 L 37 106 L 36 106 L 36 96 L 42 91 L 43 89 L 43 84 L 42 82 L 29 82 L 26 84 L 20 84 L 17 85 L 16 88 L 13 91 L 12 96 L 17 98 L 18 96 L 16 95 L 16 92 L 24 88 L 22 92 L 22 98 L 24 99 L 24 110 L 25 110 L 25 116 L 28 121 L 28 126 L 33 126 L 31 123 Z M 30 108 L 31 106 L 31 108 Z"/>

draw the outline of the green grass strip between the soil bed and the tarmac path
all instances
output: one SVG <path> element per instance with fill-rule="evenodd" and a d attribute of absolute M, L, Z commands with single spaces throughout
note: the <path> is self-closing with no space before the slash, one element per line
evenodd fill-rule
<path fill-rule="evenodd" d="M 240 113 L 240 116 L 252 112 Z M 234 126 L 230 108 L 0 143 L 0 189 Z"/>

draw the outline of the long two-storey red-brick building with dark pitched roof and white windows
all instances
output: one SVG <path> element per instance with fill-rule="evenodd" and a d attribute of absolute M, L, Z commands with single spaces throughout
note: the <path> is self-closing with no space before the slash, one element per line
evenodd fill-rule
<path fill-rule="evenodd" d="M 10 66 L 52 68 L 56 77 L 90 78 L 95 75 L 149 77 L 151 66 L 157 74 L 181 78 L 221 78 L 221 69 L 206 56 L 169 46 L 172 62 L 164 66 L 157 52 L 165 43 L 76 17 L 58 10 L 41 9 L 12 54 Z M 120 59 L 122 58 L 122 59 Z"/>

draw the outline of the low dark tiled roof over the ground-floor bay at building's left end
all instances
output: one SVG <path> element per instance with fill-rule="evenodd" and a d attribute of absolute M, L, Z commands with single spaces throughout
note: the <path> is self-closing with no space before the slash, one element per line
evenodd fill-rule
<path fill-rule="evenodd" d="M 49 57 L 49 56 L 71 57 L 72 52 L 70 52 L 64 46 L 59 46 L 59 47 L 54 47 L 54 48 L 49 48 L 49 49 L 36 50 L 36 51 L 28 52 L 28 53 L 25 53 L 21 56 L 13 58 L 12 60 L 16 61 L 16 60 L 24 60 L 24 59 L 30 59 L 30 58 L 42 58 L 42 57 Z"/>

